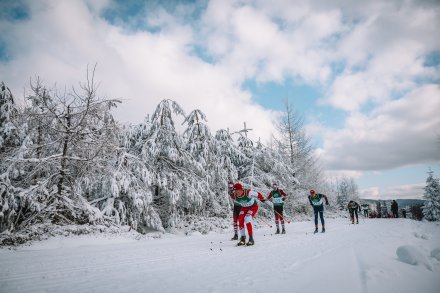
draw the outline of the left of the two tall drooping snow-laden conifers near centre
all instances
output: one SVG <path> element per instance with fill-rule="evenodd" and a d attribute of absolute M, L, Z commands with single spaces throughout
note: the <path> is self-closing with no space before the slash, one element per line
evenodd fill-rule
<path fill-rule="evenodd" d="M 209 192 L 207 180 L 201 176 L 203 170 L 176 132 L 173 113 L 185 116 L 175 101 L 159 103 L 142 148 L 142 160 L 153 166 L 153 205 L 164 228 L 175 227 L 181 215 L 200 212 Z"/>

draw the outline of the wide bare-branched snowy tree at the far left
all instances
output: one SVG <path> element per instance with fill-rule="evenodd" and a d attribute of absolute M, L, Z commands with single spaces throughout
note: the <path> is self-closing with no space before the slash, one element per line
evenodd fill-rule
<path fill-rule="evenodd" d="M 100 195 L 84 190 L 111 172 L 117 124 L 110 110 L 118 101 L 97 97 L 93 75 L 80 91 L 60 95 L 39 80 L 31 89 L 23 113 L 27 135 L 1 175 L 16 202 L 10 221 L 21 229 L 93 223 L 101 214 L 88 201 Z"/>

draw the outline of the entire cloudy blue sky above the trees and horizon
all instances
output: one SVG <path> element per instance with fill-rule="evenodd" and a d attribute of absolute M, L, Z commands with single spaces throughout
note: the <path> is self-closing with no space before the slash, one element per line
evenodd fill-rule
<path fill-rule="evenodd" d="M 328 2 L 1 0 L 0 81 L 63 91 L 96 64 L 123 123 L 172 99 L 263 143 L 288 100 L 328 178 L 421 198 L 440 176 L 440 3 Z"/>

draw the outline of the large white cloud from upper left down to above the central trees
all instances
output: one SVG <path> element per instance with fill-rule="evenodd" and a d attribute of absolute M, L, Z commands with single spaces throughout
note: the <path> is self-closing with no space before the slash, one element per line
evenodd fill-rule
<path fill-rule="evenodd" d="M 49 87 L 77 85 L 87 65 L 97 62 L 99 93 L 126 99 L 117 110 L 122 121 L 140 122 L 169 98 L 188 112 L 201 109 L 213 131 L 238 130 L 246 121 L 254 129 L 251 137 L 270 136 L 272 112 L 252 102 L 230 69 L 192 56 L 188 47 L 195 36 L 189 26 L 176 21 L 160 34 L 127 33 L 91 14 L 80 1 L 32 2 L 31 13 L 30 21 L 2 30 L 16 54 L 0 65 L 0 75 L 16 96 L 35 75 Z M 161 19 L 173 22 L 171 16 Z"/>

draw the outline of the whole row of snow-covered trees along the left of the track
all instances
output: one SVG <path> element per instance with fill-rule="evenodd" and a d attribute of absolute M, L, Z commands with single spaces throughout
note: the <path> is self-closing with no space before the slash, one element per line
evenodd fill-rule
<path fill-rule="evenodd" d="M 201 110 L 186 114 L 170 99 L 142 123 L 124 126 L 112 114 L 121 101 L 100 97 L 94 74 L 88 70 L 69 92 L 37 78 L 24 105 L 0 84 L 0 232 L 84 224 L 145 233 L 175 227 L 189 215 L 227 217 L 229 180 L 262 192 L 278 182 L 292 213 L 307 210 L 309 188 L 332 191 L 287 102 L 277 125 L 282 135 L 268 146 L 245 132 L 212 134 Z"/>

